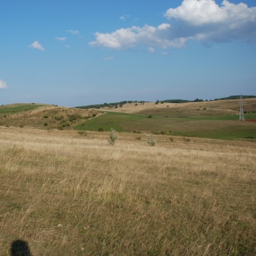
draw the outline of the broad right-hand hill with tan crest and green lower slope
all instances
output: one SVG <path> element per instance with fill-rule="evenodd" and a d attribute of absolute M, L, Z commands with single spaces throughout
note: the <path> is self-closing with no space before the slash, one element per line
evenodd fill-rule
<path fill-rule="evenodd" d="M 256 139 L 256 123 L 239 121 L 238 100 L 189 102 L 183 104 L 125 104 L 107 111 L 86 125 L 75 128 L 98 131 L 165 133 L 211 139 Z M 256 120 L 256 99 L 244 99 L 246 120 Z M 151 117 L 151 118 L 149 118 Z"/>

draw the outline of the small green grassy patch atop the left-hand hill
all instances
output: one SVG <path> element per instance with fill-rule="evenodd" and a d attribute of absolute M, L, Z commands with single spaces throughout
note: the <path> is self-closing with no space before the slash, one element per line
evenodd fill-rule
<path fill-rule="evenodd" d="M 29 110 L 35 110 L 38 107 L 45 107 L 44 104 L 12 104 L 12 105 L 4 105 L 0 107 L 0 117 L 13 115 L 20 112 L 25 112 Z"/>

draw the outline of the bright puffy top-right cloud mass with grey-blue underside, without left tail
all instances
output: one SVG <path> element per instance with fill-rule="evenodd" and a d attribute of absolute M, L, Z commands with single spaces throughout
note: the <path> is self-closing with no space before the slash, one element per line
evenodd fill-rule
<path fill-rule="evenodd" d="M 256 7 L 232 4 L 220 6 L 213 0 L 183 0 L 180 7 L 168 9 L 165 17 L 177 20 L 179 33 L 199 41 L 255 41 Z"/>

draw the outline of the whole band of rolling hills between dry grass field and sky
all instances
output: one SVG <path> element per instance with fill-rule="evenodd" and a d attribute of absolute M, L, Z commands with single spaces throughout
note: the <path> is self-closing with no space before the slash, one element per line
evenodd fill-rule
<path fill-rule="evenodd" d="M 246 120 L 256 120 L 256 98 L 244 99 Z M 0 125 L 41 129 L 168 134 L 210 139 L 255 139 L 256 123 L 239 121 L 239 99 L 210 102 L 136 102 L 79 109 L 44 104 L 0 107 Z"/>

